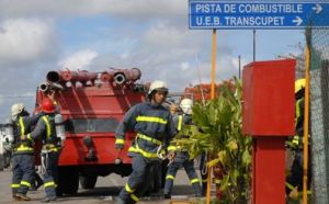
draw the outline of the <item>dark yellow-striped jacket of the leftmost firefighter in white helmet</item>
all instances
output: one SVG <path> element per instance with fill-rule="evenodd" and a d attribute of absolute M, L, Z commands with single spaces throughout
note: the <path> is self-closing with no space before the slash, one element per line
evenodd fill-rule
<path fill-rule="evenodd" d="M 14 121 L 14 155 L 33 154 L 33 143 L 31 140 L 22 140 L 22 136 L 31 133 L 32 126 L 37 123 L 41 116 L 43 116 L 43 113 L 38 113 L 33 116 L 20 116 L 16 121 Z"/>

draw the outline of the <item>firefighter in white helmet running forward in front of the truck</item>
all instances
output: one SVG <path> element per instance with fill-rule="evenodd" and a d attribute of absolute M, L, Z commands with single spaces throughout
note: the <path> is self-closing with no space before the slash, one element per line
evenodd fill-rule
<path fill-rule="evenodd" d="M 120 192 L 117 203 L 136 203 L 148 188 L 150 169 L 159 166 L 158 158 L 162 148 L 166 149 L 170 139 L 175 135 L 170 112 L 162 106 L 168 94 L 168 88 L 163 81 L 154 81 L 148 91 L 148 101 L 133 106 L 124 116 L 116 129 L 115 148 L 121 151 L 124 148 L 125 133 L 134 131 L 136 138 L 128 149 L 128 156 L 133 159 L 133 172 L 127 183 Z M 174 152 L 169 152 L 171 160 Z M 151 182 L 151 181 L 150 181 Z"/>

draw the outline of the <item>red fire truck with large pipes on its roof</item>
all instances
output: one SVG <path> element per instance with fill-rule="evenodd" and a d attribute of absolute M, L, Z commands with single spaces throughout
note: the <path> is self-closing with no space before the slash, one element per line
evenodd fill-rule
<path fill-rule="evenodd" d="M 146 99 L 147 86 L 136 83 L 140 75 L 137 68 L 103 72 L 66 69 L 49 71 L 47 82 L 38 86 L 36 104 L 55 90 L 65 124 L 66 140 L 58 162 L 59 194 L 76 193 L 79 181 L 83 189 L 92 189 L 100 175 L 131 173 L 127 149 L 135 135 L 126 135 L 126 146 L 118 155 L 114 148 L 115 129 L 127 110 Z"/>

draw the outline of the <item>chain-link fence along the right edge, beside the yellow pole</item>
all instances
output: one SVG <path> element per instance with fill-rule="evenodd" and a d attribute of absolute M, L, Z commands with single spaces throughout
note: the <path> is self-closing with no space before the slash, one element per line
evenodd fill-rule
<path fill-rule="evenodd" d="M 315 203 L 329 204 L 329 29 L 313 26 L 327 21 L 329 11 L 322 12 L 321 18 L 310 16 L 305 36 L 310 48 L 313 197 Z"/>

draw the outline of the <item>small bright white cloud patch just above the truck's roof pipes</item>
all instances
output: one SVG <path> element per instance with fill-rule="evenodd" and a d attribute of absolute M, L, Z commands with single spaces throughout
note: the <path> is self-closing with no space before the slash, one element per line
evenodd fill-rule
<path fill-rule="evenodd" d="M 64 60 L 60 60 L 58 65 L 63 68 L 69 68 L 71 70 L 88 70 L 92 61 L 99 56 L 99 54 L 91 49 L 79 50 Z"/>

